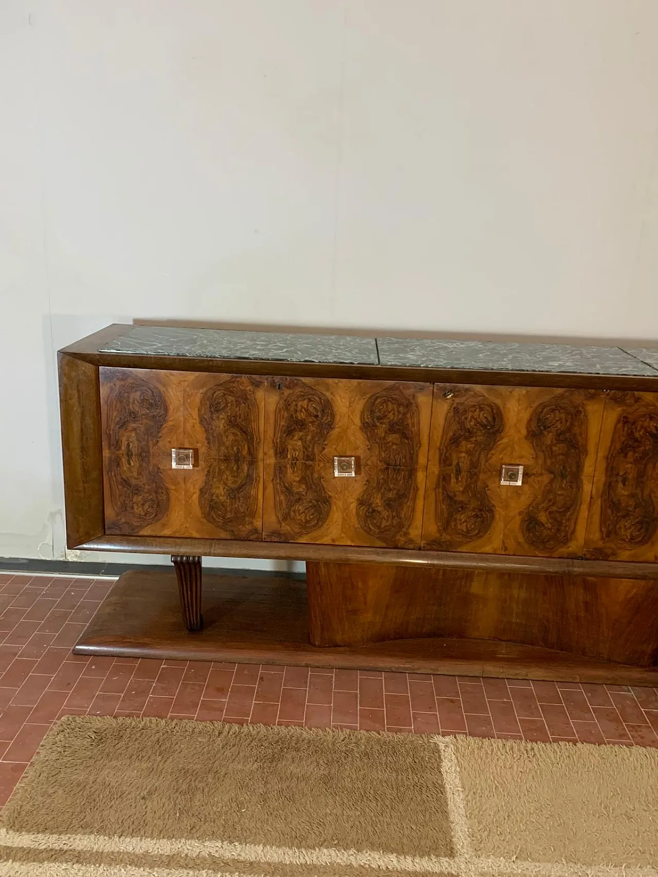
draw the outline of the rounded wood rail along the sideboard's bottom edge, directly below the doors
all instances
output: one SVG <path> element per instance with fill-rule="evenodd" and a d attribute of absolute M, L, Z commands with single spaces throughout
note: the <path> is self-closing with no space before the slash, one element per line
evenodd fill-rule
<path fill-rule="evenodd" d="M 74 545 L 69 545 L 74 547 Z M 250 542 L 239 539 L 168 538 L 158 536 L 101 536 L 75 545 L 84 551 L 122 551 L 145 554 L 197 554 L 201 557 L 244 557 L 262 560 L 325 560 L 334 563 L 383 563 L 397 566 L 453 569 L 504 569 L 514 573 L 555 573 L 604 576 L 612 579 L 658 579 L 658 563 L 622 560 L 579 560 L 519 557 L 513 554 L 413 551 L 401 548 L 362 548 L 356 545 L 317 545 L 304 542 Z"/>

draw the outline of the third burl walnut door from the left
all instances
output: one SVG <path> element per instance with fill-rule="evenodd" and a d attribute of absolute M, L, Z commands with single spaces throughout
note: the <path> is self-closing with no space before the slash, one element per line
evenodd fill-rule
<path fill-rule="evenodd" d="M 588 390 L 436 385 L 423 547 L 581 556 L 602 413 Z"/>

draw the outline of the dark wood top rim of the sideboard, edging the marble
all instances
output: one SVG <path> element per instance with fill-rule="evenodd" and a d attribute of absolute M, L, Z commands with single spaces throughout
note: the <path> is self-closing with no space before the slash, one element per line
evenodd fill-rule
<path fill-rule="evenodd" d="M 655 377 L 624 374 L 554 374 L 552 372 L 508 372 L 468 368 L 421 368 L 368 366 L 341 363 L 277 362 L 274 360 L 217 360 L 191 356 L 160 356 L 132 353 L 98 353 L 98 347 L 131 329 L 114 323 L 100 332 L 64 347 L 66 353 L 94 366 L 152 368 L 166 371 L 213 372 L 220 374 L 271 374 L 283 377 L 327 377 L 361 381 L 415 381 L 421 383 L 477 384 L 500 387 L 556 387 L 572 389 L 635 390 L 658 392 Z"/>

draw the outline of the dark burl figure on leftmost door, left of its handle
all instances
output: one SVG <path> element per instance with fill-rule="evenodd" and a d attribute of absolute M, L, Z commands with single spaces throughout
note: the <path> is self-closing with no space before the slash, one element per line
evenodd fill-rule
<path fill-rule="evenodd" d="M 166 517 L 169 492 L 154 449 L 168 405 L 154 381 L 102 369 L 105 531 L 139 533 Z"/>

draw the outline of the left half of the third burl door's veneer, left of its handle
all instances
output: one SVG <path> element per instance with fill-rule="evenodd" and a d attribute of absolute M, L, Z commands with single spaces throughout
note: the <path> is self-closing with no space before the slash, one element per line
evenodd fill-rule
<path fill-rule="evenodd" d="M 517 401 L 513 389 L 435 386 L 424 548 L 501 550 L 507 495 L 500 467 L 512 461 L 506 427 Z"/>

